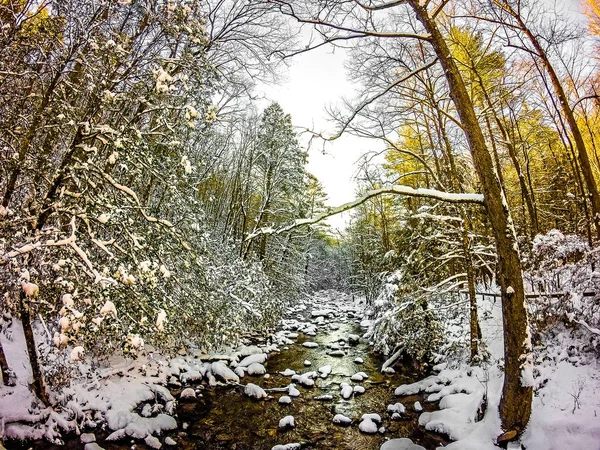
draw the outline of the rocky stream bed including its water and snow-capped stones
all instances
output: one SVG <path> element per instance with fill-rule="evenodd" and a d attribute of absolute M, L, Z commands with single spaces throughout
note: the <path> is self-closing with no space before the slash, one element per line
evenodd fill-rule
<path fill-rule="evenodd" d="M 447 443 L 418 425 L 420 405 L 424 411 L 437 409 L 437 404 L 425 401 L 427 394 L 394 395 L 397 386 L 419 376 L 409 365 L 381 374 L 382 357 L 359 337 L 364 333 L 362 317 L 360 305 L 343 294 L 307 299 L 289 312 L 281 330 L 270 337 L 280 351 L 270 353 L 266 361 L 264 354 L 254 354 L 231 363 L 237 374 L 245 373 L 239 384 L 210 388 L 206 382 L 191 382 L 171 390 L 179 399 L 178 427 L 163 434 L 162 448 L 169 448 L 165 437 L 177 443 L 171 448 L 215 450 L 269 450 L 294 442 L 301 448 L 370 450 L 392 438 L 410 438 L 426 449 Z M 264 389 L 268 397 L 257 400 L 245 395 L 264 394 L 260 388 L 247 387 L 250 384 Z M 96 432 L 101 448 L 132 448 L 131 439 L 105 441 L 108 434 Z M 84 448 L 76 436 L 65 444 L 38 442 L 34 448 Z M 158 447 L 136 440 L 135 448 Z"/>

